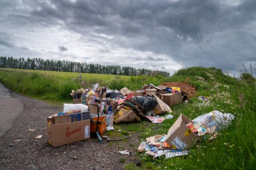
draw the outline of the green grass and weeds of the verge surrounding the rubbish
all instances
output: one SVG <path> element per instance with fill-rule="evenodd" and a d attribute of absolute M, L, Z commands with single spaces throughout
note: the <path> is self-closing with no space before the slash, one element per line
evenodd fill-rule
<path fill-rule="evenodd" d="M 71 100 L 69 90 L 81 86 L 77 80 L 73 80 L 75 77 L 56 77 L 52 74 L 0 69 L 0 82 L 8 88 L 43 100 Z M 145 155 L 145 153 L 137 153 L 135 156 L 142 163 L 141 167 L 126 162 L 125 168 L 153 170 L 187 169 L 188 167 L 200 170 L 254 169 L 256 165 L 255 79 L 242 81 L 224 75 L 220 69 L 192 67 L 181 69 L 171 77 L 131 76 L 128 79 L 122 79 L 120 76 L 113 76 L 109 80 L 100 80 L 99 82 L 100 85 L 107 85 L 111 89 L 121 89 L 126 86 L 128 89 L 134 90 L 140 89 L 144 84 L 160 85 L 163 82 L 173 81 L 188 82 L 197 89 L 197 95 L 191 99 L 191 103 L 182 103 L 171 107 L 173 119 L 165 120 L 160 124 L 141 121 L 139 123 L 114 125 L 115 131 L 108 131 L 106 135 L 121 138 L 136 134 L 139 141 L 129 145 L 136 148 L 147 137 L 155 134 L 166 134 L 180 113 L 194 119 L 202 114 L 218 110 L 223 113 L 232 113 L 235 119 L 229 128 L 219 132 L 216 139 L 211 142 L 203 141 L 197 144 L 198 147 L 194 146 L 189 149 L 189 155 L 171 159 L 165 159 L 164 156 L 161 156 L 153 161 L 152 157 Z M 97 82 L 97 79 L 87 80 L 86 85 L 92 85 L 95 82 Z M 197 100 L 198 96 L 211 96 L 212 100 L 202 102 Z M 117 133 L 119 129 L 121 132 Z M 127 143 L 129 140 L 123 140 L 122 142 Z M 120 145 L 119 148 L 117 147 L 118 149 L 123 147 L 117 142 L 109 142 L 109 146 L 111 145 Z"/>

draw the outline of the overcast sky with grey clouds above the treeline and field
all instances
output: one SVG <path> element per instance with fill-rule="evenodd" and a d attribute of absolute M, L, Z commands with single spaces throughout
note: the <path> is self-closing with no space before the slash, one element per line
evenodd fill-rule
<path fill-rule="evenodd" d="M 0 0 L 0 55 L 238 74 L 256 68 L 256 0 Z"/>

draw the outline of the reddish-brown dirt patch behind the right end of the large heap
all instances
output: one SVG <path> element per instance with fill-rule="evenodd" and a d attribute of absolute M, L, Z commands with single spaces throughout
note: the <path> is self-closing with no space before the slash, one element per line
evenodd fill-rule
<path fill-rule="evenodd" d="M 161 85 L 165 85 L 168 88 L 180 87 L 181 92 L 187 93 L 189 99 L 191 97 L 195 96 L 195 94 L 196 94 L 195 86 L 189 85 L 186 82 L 185 83 L 181 83 L 181 82 L 167 82 L 167 83 L 162 83 Z"/>

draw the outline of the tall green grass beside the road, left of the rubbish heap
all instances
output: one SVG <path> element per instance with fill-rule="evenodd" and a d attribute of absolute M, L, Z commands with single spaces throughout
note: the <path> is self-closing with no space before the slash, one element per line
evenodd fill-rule
<path fill-rule="evenodd" d="M 57 79 L 50 74 L 1 71 L 0 82 L 11 90 L 48 101 L 71 100 L 72 89 L 81 88 L 75 80 Z"/>

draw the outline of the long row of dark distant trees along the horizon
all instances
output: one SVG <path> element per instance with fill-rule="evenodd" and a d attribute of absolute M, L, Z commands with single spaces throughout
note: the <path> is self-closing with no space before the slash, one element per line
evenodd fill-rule
<path fill-rule="evenodd" d="M 36 69 L 49 71 L 64 71 L 77 73 L 98 73 L 116 75 L 151 75 L 161 74 L 170 76 L 166 71 L 135 69 L 133 67 L 121 67 L 119 65 L 87 64 L 65 60 L 49 60 L 41 58 L 13 58 L 0 57 L 0 67 L 13 69 Z"/>

